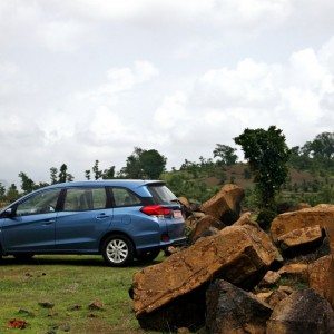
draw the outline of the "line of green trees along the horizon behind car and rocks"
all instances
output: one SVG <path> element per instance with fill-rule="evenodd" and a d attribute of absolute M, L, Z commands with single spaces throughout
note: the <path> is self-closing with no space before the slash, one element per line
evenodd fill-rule
<path fill-rule="evenodd" d="M 248 163 L 248 167 L 244 170 L 245 178 L 254 179 L 253 195 L 264 215 L 274 210 L 277 194 L 286 186 L 289 167 L 321 176 L 334 175 L 334 132 L 322 132 L 303 146 L 292 148 L 287 147 L 283 131 L 275 126 L 271 126 L 267 130 L 245 129 L 234 140 L 244 151 L 244 158 Z M 214 175 L 224 184 L 225 167 L 238 163 L 236 150 L 235 147 L 216 144 L 213 158 L 199 157 L 199 161 L 185 159 L 178 170 L 173 167 L 167 171 L 167 158 L 158 150 L 135 147 L 134 153 L 126 159 L 126 166 L 119 171 L 116 171 L 115 166 L 101 169 L 99 160 L 95 160 L 92 167 L 86 169 L 84 175 L 86 179 L 96 180 L 163 178 L 176 195 L 205 200 L 217 190 L 206 185 L 205 177 Z M 19 173 L 19 178 L 21 190 L 14 184 L 8 189 L 0 184 L 0 200 L 13 202 L 19 196 L 40 187 L 75 179 L 66 164 L 59 168 L 50 168 L 49 183 L 36 183 L 23 171 Z"/>

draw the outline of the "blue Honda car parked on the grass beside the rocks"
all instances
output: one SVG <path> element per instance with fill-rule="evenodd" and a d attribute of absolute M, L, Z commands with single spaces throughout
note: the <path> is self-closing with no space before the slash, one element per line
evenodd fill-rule
<path fill-rule="evenodd" d="M 108 265 L 153 261 L 185 242 L 176 196 L 157 180 L 57 184 L 0 210 L 0 256 L 101 254 Z"/>

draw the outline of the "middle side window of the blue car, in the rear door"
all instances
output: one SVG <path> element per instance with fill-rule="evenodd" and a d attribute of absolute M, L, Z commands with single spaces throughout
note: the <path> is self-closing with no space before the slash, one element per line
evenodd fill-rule
<path fill-rule="evenodd" d="M 70 188 L 66 191 L 65 212 L 85 212 L 106 207 L 105 188 Z"/>

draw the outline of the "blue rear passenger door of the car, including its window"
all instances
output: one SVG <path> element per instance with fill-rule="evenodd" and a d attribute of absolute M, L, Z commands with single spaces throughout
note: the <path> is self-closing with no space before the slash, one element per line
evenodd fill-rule
<path fill-rule="evenodd" d="M 63 195 L 56 225 L 56 247 L 63 252 L 97 252 L 112 220 L 105 187 L 73 187 Z"/>

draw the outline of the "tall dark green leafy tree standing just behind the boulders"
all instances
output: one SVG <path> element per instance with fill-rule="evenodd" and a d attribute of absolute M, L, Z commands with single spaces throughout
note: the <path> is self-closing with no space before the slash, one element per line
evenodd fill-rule
<path fill-rule="evenodd" d="M 288 175 L 286 164 L 289 149 L 285 136 L 281 129 L 271 126 L 268 130 L 245 129 L 234 140 L 242 146 L 245 159 L 249 163 L 261 208 L 274 209 L 275 195 Z"/>

